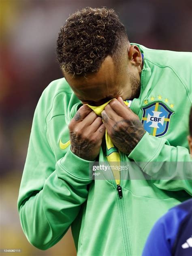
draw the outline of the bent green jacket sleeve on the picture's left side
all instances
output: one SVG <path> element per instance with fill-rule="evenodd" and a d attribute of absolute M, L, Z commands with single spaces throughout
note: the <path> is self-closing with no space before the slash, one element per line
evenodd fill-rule
<path fill-rule="evenodd" d="M 75 220 L 87 199 L 90 161 L 72 153 L 70 147 L 57 162 L 46 139 L 44 106 L 38 102 L 17 208 L 28 241 L 41 250 L 55 245 Z"/>

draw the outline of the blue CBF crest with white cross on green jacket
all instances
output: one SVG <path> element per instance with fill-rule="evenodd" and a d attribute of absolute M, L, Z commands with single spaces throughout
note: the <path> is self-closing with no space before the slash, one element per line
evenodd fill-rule
<path fill-rule="evenodd" d="M 144 129 L 156 137 L 166 134 L 171 115 L 174 112 L 170 111 L 162 102 L 154 102 L 142 109 L 142 123 Z"/>

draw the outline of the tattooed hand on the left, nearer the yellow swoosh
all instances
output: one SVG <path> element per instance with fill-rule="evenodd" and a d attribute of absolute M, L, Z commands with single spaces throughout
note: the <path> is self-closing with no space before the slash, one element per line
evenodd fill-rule
<path fill-rule="evenodd" d="M 85 160 L 95 160 L 105 134 L 102 118 L 96 115 L 90 107 L 83 105 L 70 121 L 68 128 L 70 148 L 73 154 Z"/>

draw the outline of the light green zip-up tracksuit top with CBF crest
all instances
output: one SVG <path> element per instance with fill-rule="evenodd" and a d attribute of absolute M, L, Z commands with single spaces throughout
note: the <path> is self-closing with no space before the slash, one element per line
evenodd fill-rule
<path fill-rule="evenodd" d="M 17 206 L 23 232 L 41 250 L 71 226 L 78 256 L 140 256 L 156 220 L 191 198 L 192 169 L 181 165 L 191 161 L 192 54 L 138 46 L 141 93 L 130 109 L 146 133 L 129 155 L 120 154 L 122 162 L 137 162 L 120 173 L 122 198 L 113 178 L 92 179 L 91 161 L 70 150 L 68 124 L 81 102 L 65 79 L 51 82 L 38 101 Z M 102 147 L 99 161 L 107 161 Z M 132 179 L 136 172 L 139 178 Z"/>

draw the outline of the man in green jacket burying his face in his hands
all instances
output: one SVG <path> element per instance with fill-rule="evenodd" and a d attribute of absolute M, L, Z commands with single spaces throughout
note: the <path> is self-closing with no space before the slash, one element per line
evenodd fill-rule
<path fill-rule="evenodd" d="M 192 194 L 189 168 L 161 166 L 190 161 L 191 55 L 130 44 L 106 8 L 71 15 L 57 54 L 64 78 L 38 102 L 19 190 L 23 231 L 46 250 L 71 226 L 78 255 L 139 256 L 154 222 Z M 129 171 L 93 180 L 90 166 L 113 153 Z"/>

